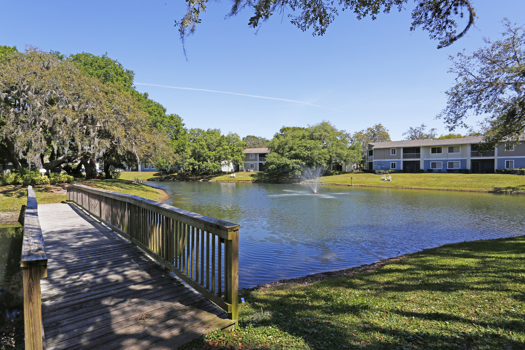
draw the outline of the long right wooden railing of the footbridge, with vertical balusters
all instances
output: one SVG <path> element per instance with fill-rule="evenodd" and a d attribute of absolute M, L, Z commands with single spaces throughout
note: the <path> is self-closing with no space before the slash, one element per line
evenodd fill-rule
<path fill-rule="evenodd" d="M 237 322 L 239 225 L 82 185 L 69 186 L 67 200 L 129 239 Z"/>

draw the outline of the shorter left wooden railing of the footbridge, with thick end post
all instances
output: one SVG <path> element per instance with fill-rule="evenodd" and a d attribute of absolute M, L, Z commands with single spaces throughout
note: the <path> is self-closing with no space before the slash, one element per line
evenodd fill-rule
<path fill-rule="evenodd" d="M 47 256 L 38 220 L 38 208 L 33 187 L 27 187 L 27 206 L 24 215 L 22 245 L 24 280 L 24 333 L 27 350 L 45 348 L 40 300 L 40 279 L 47 276 Z"/>

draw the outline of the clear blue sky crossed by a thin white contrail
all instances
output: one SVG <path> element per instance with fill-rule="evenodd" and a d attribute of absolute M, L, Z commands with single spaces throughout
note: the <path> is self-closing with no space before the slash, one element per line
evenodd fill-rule
<path fill-rule="evenodd" d="M 448 133 L 435 120 L 454 83 L 448 55 L 483 46 L 482 37 L 499 38 L 503 17 L 523 24 L 525 14 L 523 0 L 475 0 L 476 27 L 438 50 L 426 31 L 409 31 L 413 6 L 374 21 L 341 13 L 324 36 L 312 37 L 280 15 L 256 34 L 249 11 L 224 19 L 229 2 L 211 2 L 186 41 L 186 60 L 174 27 L 182 0 L 18 0 L 2 4 L 0 45 L 108 52 L 135 72 L 140 92 L 188 128 L 271 139 L 282 126 L 323 120 L 351 133 L 382 123 L 401 140 L 421 123 Z"/>

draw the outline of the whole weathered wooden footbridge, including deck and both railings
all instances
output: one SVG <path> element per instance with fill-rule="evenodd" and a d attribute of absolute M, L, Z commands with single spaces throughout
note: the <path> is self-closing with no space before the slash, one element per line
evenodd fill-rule
<path fill-rule="evenodd" d="M 31 197 L 26 349 L 175 349 L 236 325 L 238 225 L 80 185 L 37 213 Z"/>

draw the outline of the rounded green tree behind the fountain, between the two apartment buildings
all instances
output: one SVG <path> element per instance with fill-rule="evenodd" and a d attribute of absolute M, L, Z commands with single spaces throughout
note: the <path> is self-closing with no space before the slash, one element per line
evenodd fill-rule
<path fill-rule="evenodd" d="M 361 157 L 361 146 L 354 146 L 344 130 L 323 121 L 308 128 L 283 126 L 270 142 L 265 171 L 301 176 L 307 167 L 353 164 Z"/>

